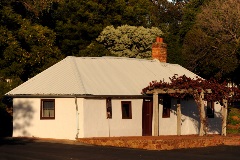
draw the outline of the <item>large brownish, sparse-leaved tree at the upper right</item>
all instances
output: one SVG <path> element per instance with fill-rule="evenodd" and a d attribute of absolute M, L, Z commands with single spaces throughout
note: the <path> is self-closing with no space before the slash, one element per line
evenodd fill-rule
<path fill-rule="evenodd" d="M 205 78 L 228 79 L 239 66 L 239 0 L 214 0 L 202 7 L 184 39 L 187 67 Z"/>

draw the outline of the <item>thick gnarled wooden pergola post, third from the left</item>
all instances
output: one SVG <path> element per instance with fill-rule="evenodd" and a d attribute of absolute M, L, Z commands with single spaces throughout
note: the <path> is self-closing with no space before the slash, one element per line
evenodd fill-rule
<path fill-rule="evenodd" d="M 205 108 L 204 108 L 204 93 L 203 91 L 200 93 L 199 96 L 199 102 L 200 102 L 200 131 L 199 131 L 199 136 L 203 136 L 206 134 L 206 126 L 205 126 L 205 122 L 206 122 L 206 114 L 205 114 Z"/>

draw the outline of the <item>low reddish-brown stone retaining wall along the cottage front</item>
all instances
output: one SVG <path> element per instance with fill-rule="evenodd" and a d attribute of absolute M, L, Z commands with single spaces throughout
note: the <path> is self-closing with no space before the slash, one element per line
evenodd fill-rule
<path fill-rule="evenodd" d="M 78 142 L 101 145 L 138 148 L 146 150 L 171 150 L 182 148 L 199 148 L 218 145 L 240 145 L 240 135 L 234 136 L 157 136 L 157 137 L 108 137 L 79 138 Z"/>

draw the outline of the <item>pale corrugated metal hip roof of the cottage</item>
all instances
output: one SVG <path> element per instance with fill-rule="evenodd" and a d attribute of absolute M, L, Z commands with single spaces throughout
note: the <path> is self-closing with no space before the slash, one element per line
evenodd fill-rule
<path fill-rule="evenodd" d="M 6 95 L 141 95 L 151 81 L 196 77 L 178 64 L 123 57 L 69 56 Z"/>

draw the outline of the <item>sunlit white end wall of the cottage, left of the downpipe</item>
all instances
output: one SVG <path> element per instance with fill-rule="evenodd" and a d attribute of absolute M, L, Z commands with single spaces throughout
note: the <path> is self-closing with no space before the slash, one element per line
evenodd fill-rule
<path fill-rule="evenodd" d="M 80 112 L 81 101 L 78 100 Z M 13 99 L 13 137 L 75 139 L 77 121 L 74 98 L 55 98 L 55 119 L 40 120 L 40 102 L 39 98 Z"/>

